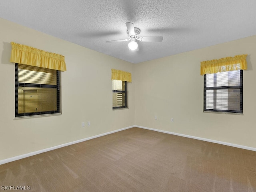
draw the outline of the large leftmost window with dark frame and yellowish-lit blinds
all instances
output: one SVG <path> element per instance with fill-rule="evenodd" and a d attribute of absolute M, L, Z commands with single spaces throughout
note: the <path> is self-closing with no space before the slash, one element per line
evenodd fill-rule
<path fill-rule="evenodd" d="M 15 116 L 60 113 L 60 72 L 15 64 Z"/>

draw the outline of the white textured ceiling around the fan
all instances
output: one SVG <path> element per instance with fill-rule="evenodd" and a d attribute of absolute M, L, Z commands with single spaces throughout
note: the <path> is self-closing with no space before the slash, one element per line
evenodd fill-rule
<path fill-rule="evenodd" d="M 256 34 L 255 0 L 0 0 L 0 17 L 132 63 Z M 106 43 L 140 36 L 162 42 Z M 1 30 L 1 29 L 0 29 Z"/>

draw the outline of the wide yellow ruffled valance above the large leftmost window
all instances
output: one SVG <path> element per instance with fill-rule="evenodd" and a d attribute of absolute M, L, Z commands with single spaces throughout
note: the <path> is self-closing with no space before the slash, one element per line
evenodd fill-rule
<path fill-rule="evenodd" d="M 11 42 L 11 44 L 12 52 L 10 62 L 66 71 L 66 63 L 63 55 L 46 52 L 14 42 Z"/>

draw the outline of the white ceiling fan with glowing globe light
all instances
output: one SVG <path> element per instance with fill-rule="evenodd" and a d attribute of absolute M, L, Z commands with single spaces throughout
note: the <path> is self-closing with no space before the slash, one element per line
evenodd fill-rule
<path fill-rule="evenodd" d="M 161 42 L 163 37 L 139 37 L 140 36 L 140 29 L 133 26 L 133 23 L 125 23 L 127 27 L 127 34 L 129 39 L 120 39 L 120 40 L 112 40 L 106 41 L 106 43 L 112 42 L 122 42 L 122 41 L 131 41 L 128 44 L 130 50 L 136 50 L 138 48 L 138 44 L 136 40 L 141 42 Z"/>

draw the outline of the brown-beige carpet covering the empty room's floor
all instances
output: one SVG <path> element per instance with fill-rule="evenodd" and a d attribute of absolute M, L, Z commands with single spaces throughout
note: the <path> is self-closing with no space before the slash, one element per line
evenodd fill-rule
<path fill-rule="evenodd" d="M 3 186 L 35 192 L 256 192 L 256 152 L 131 128 L 0 165 Z"/>

